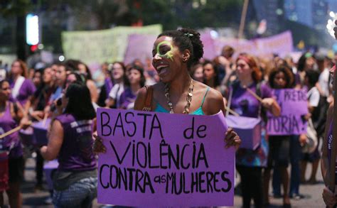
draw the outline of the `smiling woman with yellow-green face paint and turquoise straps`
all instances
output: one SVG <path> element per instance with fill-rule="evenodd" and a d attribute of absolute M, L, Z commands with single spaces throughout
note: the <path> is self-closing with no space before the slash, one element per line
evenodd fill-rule
<path fill-rule="evenodd" d="M 223 96 L 215 89 L 193 80 L 191 65 L 203 57 L 200 33 L 192 29 L 165 31 L 154 42 L 152 65 L 161 82 L 139 89 L 135 110 L 166 112 L 170 114 L 214 115 L 225 113 Z M 226 146 L 240 146 L 241 140 L 231 128 L 225 133 Z M 105 152 L 97 139 L 94 151 Z"/>

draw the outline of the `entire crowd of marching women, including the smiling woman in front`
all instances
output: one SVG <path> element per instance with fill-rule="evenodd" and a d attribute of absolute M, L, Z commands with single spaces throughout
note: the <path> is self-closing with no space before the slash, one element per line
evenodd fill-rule
<path fill-rule="evenodd" d="M 95 75 L 85 60 L 32 68 L 22 60 L 15 60 L 6 69 L 0 81 L 0 134 L 16 126 L 25 129 L 30 121 L 50 119 L 52 122 L 46 146 L 23 145 L 20 131 L 0 140 L 0 207 L 4 204 L 4 192 L 11 207 L 22 206 L 20 186 L 25 149 L 37 155 L 36 189 L 43 185 L 44 160 L 58 159 L 58 171 L 53 175 L 54 187 L 50 191 L 55 207 L 92 206 L 92 199 L 97 195 L 94 152 L 105 152 L 101 139 L 92 136 L 98 107 L 195 115 L 231 109 L 230 112 L 240 116 L 262 117 L 265 124 L 266 111 L 274 116 L 281 114 L 272 89 L 307 90 L 309 114 L 303 119 L 314 124 L 318 143 L 308 152 L 304 150 L 308 141 L 305 133 L 291 136 L 262 133 L 260 146 L 248 150 L 239 147 L 239 136 L 229 129 L 224 137 L 229 146 L 237 148 L 235 164 L 240 173 L 237 189 L 241 190 L 242 206 L 250 207 L 251 199 L 255 207 L 268 206 L 269 192 L 272 192 L 274 197 L 283 197 L 284 207 L 291 207 L 291 198 L 302 198 L 301 184 L 317 182 L 316 172 L 322 157 L 319 143 L 323 143 L 323 160 L 328 155 L 325 128 L 332 122 L 331 116 L 327 121 L 326 111 L 333 105 L 331 80 L 337 55 L 331 59 L 306 52 L 294 62 L 290 56 L 281 58 L 276 54 L 270 58 L 237 54 L 235 48 L 226 45 L 218 57 L 204 60 L 200 34 L 191 29 L 162 33 L 154 43 L 152 54 L 152 62 L 103 63 Z M 102 82 L 97 82 L 97 75 L 104 77 Z M 146 102 L 148 97 L 150 103 Z M 313 168 L 311 176 L 306 178 L 308 163 Z M 328 180 L 325 175 L 323 178 Z M 328 190 L 323 198 L 327 204 L 336 202 Z"/>

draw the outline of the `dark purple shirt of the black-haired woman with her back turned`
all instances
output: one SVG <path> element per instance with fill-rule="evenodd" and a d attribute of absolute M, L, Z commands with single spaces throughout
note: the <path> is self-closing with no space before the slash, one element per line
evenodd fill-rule
<path fill-rule="evenodd" d="M 92 153 L 92 120 L 75 120 L 71 114 L 56 117 L 63 126 L 63 143 L 58 155 L 58 170 L 82 171 L 96 168 Z"/>

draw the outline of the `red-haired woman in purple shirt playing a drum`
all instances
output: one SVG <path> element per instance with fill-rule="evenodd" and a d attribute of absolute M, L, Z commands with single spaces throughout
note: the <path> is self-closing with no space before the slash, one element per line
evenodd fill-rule
<path fill-rule="evenodd" d="M 266 84 L 261 84 L 262 72 L 257 67 L 255 58 L 241 54 L 236 61 L 238 81 L 230 87 L 228 103 L 230 109 L 240 114 L 258 118 L 262 116 L 262 108 L 268 109 L 279 116 L 280 107 L 272 98 L 272 90 Z M 257 100 L 247 89 L 255 92 L 262 98 Z M 263 132 L 263 131 L 262 131 Z M 255 207 L 262 207 L 262 168 L 267 165 L 267 143 L 262 137 L 261 145 L 256 150 L 239 148 L 236 153 L 236 168 L 241 176 L 242 204 L 250 207 L 253 198 Z"/>

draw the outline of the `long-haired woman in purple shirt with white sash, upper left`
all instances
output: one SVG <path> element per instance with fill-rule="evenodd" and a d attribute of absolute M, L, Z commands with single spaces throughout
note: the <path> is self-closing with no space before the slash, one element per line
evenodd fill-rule
<path fill-rule="evenodd" d="M 22 60 L 14 60 L 11 65 L 11 100 L 18 102 L 28 111 L 29 100 L 36 91 L 36 87 L 31 80 L 27 79 L 26 63 Z"/>

